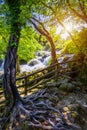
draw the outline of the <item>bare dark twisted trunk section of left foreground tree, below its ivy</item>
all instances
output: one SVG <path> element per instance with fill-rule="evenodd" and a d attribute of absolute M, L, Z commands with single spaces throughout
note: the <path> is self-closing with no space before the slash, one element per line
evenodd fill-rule
<path fill-rule="evenodd" d="M 4 63 L 4 92 L 6 101 L 13 105 L 20 99 L 16 88 L 16 57 L 19 39 L 11 34 Z M 9 105 L 9 104 L 8 104 Z"/>

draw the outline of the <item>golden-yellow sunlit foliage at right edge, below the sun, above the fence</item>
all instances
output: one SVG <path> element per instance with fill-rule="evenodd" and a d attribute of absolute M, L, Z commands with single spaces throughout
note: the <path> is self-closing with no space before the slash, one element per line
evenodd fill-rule
<path fill-rule="evenodd" d="M 87 57 L 87 28 L 83 28 L 80 32 L 74 33 L 75 44 L 71 40 L 65 42 L 63 51 L 66 53 L 74 53 L 81 62 Z M 76 47 L 77 46 L 77 47 Z"/>

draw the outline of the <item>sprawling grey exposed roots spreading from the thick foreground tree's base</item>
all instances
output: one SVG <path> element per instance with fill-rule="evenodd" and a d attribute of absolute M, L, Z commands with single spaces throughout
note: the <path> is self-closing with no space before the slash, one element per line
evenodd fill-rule
<path fill-rule="evenodd" d="M 26 97 L 22 102 L 17 102 L 10 114 L 10 120 L 3 128 L 8 130 L 72 130 L 62 112 L 54 107 L 48 89 Z M 56 100 L 56 99 L 55 99 Z M 54 100 L 54 102 L 55 102 Z"/>

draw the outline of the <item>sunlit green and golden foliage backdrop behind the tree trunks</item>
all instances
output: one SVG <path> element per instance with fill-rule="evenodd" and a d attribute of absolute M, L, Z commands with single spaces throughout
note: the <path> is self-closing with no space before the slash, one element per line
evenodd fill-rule
<path fill-rule="evenodd" d="M 38 3 L 38 5 L 36 3 Z M 51 0 L 41 0 L 40 2 L 38 0 L 36 2 L 23 1 L 23 3 L 21 3 L 21 13 L 19 20 L 22 21 L 22 30 L 18 49 L 19 60 L 29 61 L 30 59 L 34 58 L 34 53 L 37 50 L 51 50 L 50 46 L 48 46 L 49 40 L 47 40 L 46 37 L 43 37 L 42 33 L 38 33 L 37 28 L 35 28 L 35 30 L 32 26 L 32 18 L 34 23 L 37 22 L 36 26 L 39 29 L 45 29 L 46 31 L 45 27 L 48 27 L 48 32 L 53 39 L 55 48 L 62 48 L 63 53 L 74 53 L 78 57 L 80 55 L 86 55 L 87 39 L 85 34 L 87 29 L 85 26 L 81 27 L 82 24 L 85 24 L 84 22 L 86 22 L 87 19 L 86 1 L 75 1 L 73 3 L 72 0 L 67 0 L 66 2 L 63 0 L 62 2 L 58 1 L 58 4 L 56 3 L 57 1 L 53 2 Z M 7 3 L 3 3 L 2 1 L 0 7 L 0 57 L 4 58 L 10 34 L 11 21 Z M 82 7 L 84 7 L 84 9 Z M 81 15 L 79 15 L 80 12 Z M 15 12 L 13 13 L 15 14 Z M 38 16 L 40 17 L 40 20 Z M 67 19 L 69 20 L 66 24 L 65 20 Z M 56 22 L 56 24 L 54 24 L 54 22 Z M 78 28 L 74 29 L 74 26 L 78 26 L 77 23 L 79 23 L 79 28 L 81 28 L 79 32 L 77 31 Z M 70 25 L 73 29 L 70 28 Z M 59 31 L 60 27 L 61 31 Z M 66 36 L 65 32 L 68 33 L 68 37 Z M 61 34 L 65 34 L 64 37 L 66 37 L 66 39 L 63 39 Z"/>

